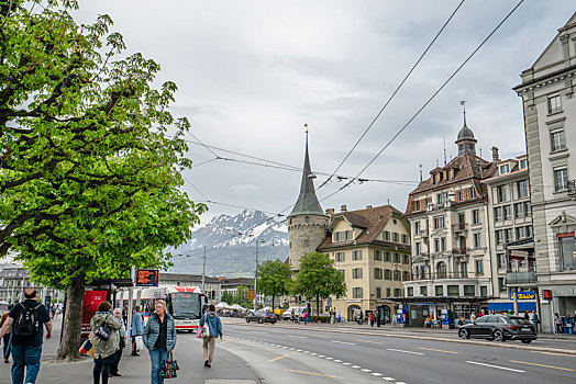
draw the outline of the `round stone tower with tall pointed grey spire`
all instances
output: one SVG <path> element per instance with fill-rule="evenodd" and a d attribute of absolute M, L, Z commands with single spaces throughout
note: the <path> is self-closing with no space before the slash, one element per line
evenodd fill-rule
<path fill-rule="evenodd" d="M 300 258 L 312 253 L 324 241 L 329 216 L 324 214 L 314 191 L 314 176 L 308 155 L 308 131 L 306 131 L 304 167 L 298 201 L 288 215 L 289 260 L 292 271 L 300 269 Z"/>

